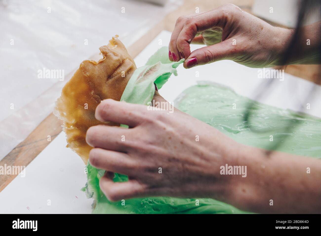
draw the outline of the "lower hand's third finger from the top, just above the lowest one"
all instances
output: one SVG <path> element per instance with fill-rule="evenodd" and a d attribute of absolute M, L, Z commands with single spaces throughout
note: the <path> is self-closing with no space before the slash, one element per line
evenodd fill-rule
<path fill-rule="evenodd" d="M 126 153 L 93 148 L 89 153 L 89 162 L 96 168 L 124 175 L 135 172 L 135 162 Z"/>

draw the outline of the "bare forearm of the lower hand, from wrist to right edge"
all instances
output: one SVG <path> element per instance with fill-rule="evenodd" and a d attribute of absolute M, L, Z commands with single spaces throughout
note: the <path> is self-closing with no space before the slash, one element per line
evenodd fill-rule
<path fill-rule="evenodd" d="M 244 146 L 238 165 L 247 166 L 247 177 L 230 181 L 230 204 L 257 213 L 321 213 L 321 160 L 280 152 L 268 156 Z"/>

